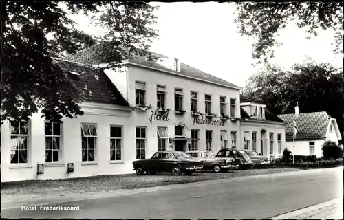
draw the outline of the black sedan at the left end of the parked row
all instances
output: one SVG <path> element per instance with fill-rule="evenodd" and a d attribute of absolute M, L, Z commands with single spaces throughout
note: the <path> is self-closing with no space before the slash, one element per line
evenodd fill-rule
<path fill-rule="evenodd" d="M 133 170 L 136 170 L 138 175 L 142 175 L 144 172 L 151 175 L 160 172 L 191 175 L 202 168 L 202 160 L 191 158 L 182 151 L 158 151 L 149 159 L 139 159 L 133 162 Z"/>

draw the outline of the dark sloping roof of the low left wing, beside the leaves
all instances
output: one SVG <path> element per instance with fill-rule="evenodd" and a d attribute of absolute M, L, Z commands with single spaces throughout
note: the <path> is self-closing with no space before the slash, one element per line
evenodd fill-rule
<path fill-rule="evenodd" d="M 80 74 L 68 73 L 68 76 L 76 87 L 88 92 L 89 96 L 87 96 L 86 102 L 129 106 L 102 69 L 71 61 L 56 61 L 61 69 Z"/>

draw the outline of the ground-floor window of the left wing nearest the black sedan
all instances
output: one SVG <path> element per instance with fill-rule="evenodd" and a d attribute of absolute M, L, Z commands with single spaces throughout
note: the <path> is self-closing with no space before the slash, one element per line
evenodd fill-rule
<path fill-rule="evenodd" d="M 110 126 L 110 160 L 122 160 L 122 126 Z"/>

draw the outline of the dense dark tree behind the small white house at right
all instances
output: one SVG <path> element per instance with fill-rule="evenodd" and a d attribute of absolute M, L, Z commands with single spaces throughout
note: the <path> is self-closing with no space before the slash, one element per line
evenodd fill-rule
<path fill-rule="evenodd" d="M 251 76 L 243 91 L 245 96 L 268 103 L 276 114 L 327 111 L 343 136 L 343 69 L 328 63 L 308 62 L 294 65 L 290 71 L 266 65 Z"/>

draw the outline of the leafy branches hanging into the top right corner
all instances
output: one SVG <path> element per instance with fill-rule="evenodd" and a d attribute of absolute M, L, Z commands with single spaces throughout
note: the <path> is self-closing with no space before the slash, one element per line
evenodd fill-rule
<path fill-rule="evenodd" d="M 296 20 L 299 28 L 308 28 L 309 36 L 320 29 L 333 28 L 334 53 L 343 53 L 343 2 L 240 2 L 237 3 L 239 33 L 257 38 L 252 58 L 268 61 L 273 57 L 279 30 Z M 308 36 L 308 37 L 309 37 Z"/>

